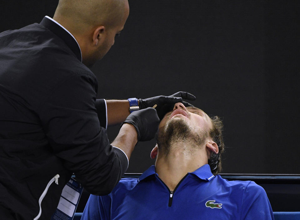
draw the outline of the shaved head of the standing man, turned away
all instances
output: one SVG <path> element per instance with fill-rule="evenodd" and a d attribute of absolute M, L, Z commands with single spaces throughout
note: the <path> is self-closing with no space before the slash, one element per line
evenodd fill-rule
<path fill-rule="evenodd" d="M 114 44 L 128 14 L 128 0 L 59 0 L 53 19 L 75 37 L 82 62 L 91 67 Z"/>

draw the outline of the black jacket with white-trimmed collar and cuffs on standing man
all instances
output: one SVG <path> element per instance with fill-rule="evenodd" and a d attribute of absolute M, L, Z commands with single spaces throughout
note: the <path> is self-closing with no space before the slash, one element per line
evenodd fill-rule
<path fill-rule="evenodd" d="M 118 183 L 128 162 L 109 144 L 97 89 L 76 40 L 50 19 L 0 33 L 0 214 L 36 217 L 57 174 L 40 219 L 51 217 L 72 173 L 92 194 Z"/>

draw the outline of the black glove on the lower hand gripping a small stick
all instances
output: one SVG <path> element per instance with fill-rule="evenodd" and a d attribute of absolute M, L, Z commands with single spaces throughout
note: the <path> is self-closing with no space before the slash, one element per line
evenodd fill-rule
<path fill-rule="evenodd" d="M 159 124 L 159 118 L 154 108 L 134 111 L 122 123 L 132 124 L 138 133 L 138 141 L 149 141 L 154 138 Z M 121 127 L 122 127 L 121 125 Z"/>

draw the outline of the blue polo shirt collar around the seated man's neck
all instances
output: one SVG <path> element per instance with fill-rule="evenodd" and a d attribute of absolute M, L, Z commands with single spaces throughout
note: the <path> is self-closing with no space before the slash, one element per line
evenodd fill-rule
<path fill-rule="evenodd" d="M 156 174 L 155 166 L 152 165 L 145 172 L 143 172 L 143 174 L 138 178 L 138 181 L 141 181 L 141 180 L 147 178 L 148 176 L 151 176 L 154 174 Z M 198 168 L 197 170 L 195 170 L 194 172 L 191 172 L 189 174 L 197 176 L 199 179 L 203 179 L 206 181 L 210 181 L 211 179 L 213 179 L 215 177 L 212 174 L 212 172 L 210 170 L 210 166 L 208 164 L 203 165 L 202 167 Z"/>

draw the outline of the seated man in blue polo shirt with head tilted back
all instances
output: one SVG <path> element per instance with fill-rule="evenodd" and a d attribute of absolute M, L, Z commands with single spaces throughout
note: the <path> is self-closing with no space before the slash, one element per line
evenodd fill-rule
<path fill-rule="evenodd" d="M 274 219 L 261 186 L 217 175 L 222 127 L 217 116 L 176 103 L 159 124 L 155 166 L 91 195 L 82 219 Z"/>

